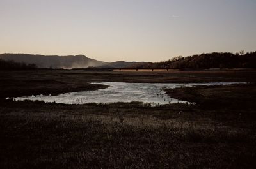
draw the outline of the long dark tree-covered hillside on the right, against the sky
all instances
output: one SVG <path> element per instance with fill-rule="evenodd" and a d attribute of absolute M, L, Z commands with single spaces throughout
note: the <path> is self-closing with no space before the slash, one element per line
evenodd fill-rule
<path fill-rule="evenodd" d="M 209 69 L 209 68 L 256 68 L 256 52 L 243 51 L 232 54 L 230 52 L 192 55 L 188 57 L 174 57 L 168 61 L 134 64 L 130 68 L 139 69 Z"/>

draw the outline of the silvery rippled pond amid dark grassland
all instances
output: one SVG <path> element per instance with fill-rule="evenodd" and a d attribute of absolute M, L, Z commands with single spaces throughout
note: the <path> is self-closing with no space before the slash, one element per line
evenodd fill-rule
<path fill-rule="evenodd" d="M 174 89 L 177 87 L 193 87 L 196 85 L 229 85 L 244 82 L 211 82 L 211 83 L 125 83 L 125 82 L 101 82 L 97 84 L 108 85 L 106 89 L 96 91 L 81 91 L 58 94 L 58 96 L 27 96 L 13 98 L 15 101 L 45 101 L 65 104 L 84 104 L 84 103 L 115 103 L 140 101 L 154 105 L 168 103 L 188 103 L 172 98 L 166 94 L 164 89 Z M 93 83 L 96 84 L 96 83 Z"/>

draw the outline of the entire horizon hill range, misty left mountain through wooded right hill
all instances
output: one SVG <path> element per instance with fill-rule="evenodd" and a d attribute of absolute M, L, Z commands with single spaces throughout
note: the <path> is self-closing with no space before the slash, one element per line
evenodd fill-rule
<path fill-rule="evenodd" d="M 33 55 L 0 54 L 0 59 L 12 60 L 24 64 L 35 64 L 37 68 L 136 68 L 136 69 L 207 69 L 207 68 L 256 68 L 256 52 L 232 54 L 230 52 L 212 52 L 187 57 L 173 57 L 163 62 L 102 62 L 85 55 Z"/>

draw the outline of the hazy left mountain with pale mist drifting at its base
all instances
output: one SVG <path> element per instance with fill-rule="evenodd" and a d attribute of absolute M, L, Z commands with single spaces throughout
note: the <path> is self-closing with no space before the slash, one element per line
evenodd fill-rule
<path fill-rule="evenodd" d="M 6 61 L 35 64 L 38 68 L 87 68 L 102 66 L 108 62 L 90 59 L 85 55 L 32 55 L 32 54 L 0 54 L 0 59 Z"/>

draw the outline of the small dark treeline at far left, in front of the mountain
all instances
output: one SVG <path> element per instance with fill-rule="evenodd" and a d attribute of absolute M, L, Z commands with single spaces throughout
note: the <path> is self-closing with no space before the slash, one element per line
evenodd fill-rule
<path fill-rule="evenodd" d="M 33 70 L 36 68 L 35 64 L 25 64 L 0 59 L 0 70 Z"/>

